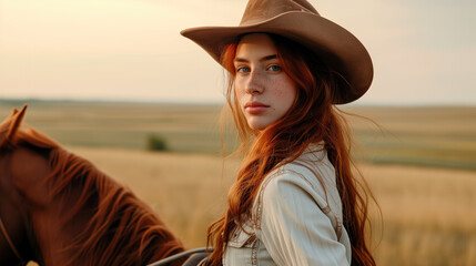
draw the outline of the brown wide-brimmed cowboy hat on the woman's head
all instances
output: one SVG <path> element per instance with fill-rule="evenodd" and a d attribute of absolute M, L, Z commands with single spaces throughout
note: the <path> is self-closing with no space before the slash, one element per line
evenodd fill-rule
<path fill-rule="evenodd" d="M 306 0 L 250 0 L 237 27 L 199 27 L 181 31 L 221 63 L 223 49 L 246 33 L 274 33 L 298 42 L 335 70 L 341 82 L 335 104 L 361 98 L 373 79 L 372 59 L 351 32 L 323 18 Z"/>

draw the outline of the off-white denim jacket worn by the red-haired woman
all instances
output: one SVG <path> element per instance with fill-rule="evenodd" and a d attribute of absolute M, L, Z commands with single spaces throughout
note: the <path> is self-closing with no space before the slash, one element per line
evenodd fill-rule
<path fill-rule="evenodd" d="M 351 265 L 335 170 L 322 145 L 265 177 L 244 231 L 234 232 L 223 265 Z"/>

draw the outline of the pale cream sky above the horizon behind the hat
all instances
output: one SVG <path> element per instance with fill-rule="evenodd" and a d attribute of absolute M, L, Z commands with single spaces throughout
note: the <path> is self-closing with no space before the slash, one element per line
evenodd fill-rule
<path fill-rule="evenodd" d="M 362 104 L 476 104 L 476 1 L 310 0 L 373 58 Z M 0 99 L 219 102 L 223 71 L 181 37 L 246 0 L 0 0 Z"/>

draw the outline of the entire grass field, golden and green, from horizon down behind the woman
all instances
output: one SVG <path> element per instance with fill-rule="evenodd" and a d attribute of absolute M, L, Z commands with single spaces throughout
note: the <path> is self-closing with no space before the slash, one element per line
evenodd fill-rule
<path fill-rule="evenodd" d="M 20 103 L 0 102 L 0 116 Z M 476 265 L 476 108 L 347 108 L 378 265 Z M 223 212 L 237 168 L 220 152 L 220 106 L 31 102 L 27 123 L 152 204 L 188 247 Z M 149 134 L 172 150 L 145 152 Z M 233 134 L 229 133 L 233 139 Z M 231 144 L 230 142 L 229 144 Z M 424 167 L 422 167 L 424 166 Z"/>

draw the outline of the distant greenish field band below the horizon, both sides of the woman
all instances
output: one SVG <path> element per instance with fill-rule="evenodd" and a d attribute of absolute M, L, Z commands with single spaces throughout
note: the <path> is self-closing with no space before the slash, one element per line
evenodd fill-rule
<path fill-rule="evenodd" d="M 0 101 L 0 116 L 22 104 Z M 168 141 L 172 152 L 217 154 L 220 110 L 219 105 L 30 101 L 27 123 L 67 145 L 144 150 L 148 136 L 155 134 Z M 476 171 L 476 106 L 344 111 L 356 114 L 348 120 L 361 161 Z M 234 140 L 229 131 L 229 151 Z"/>

